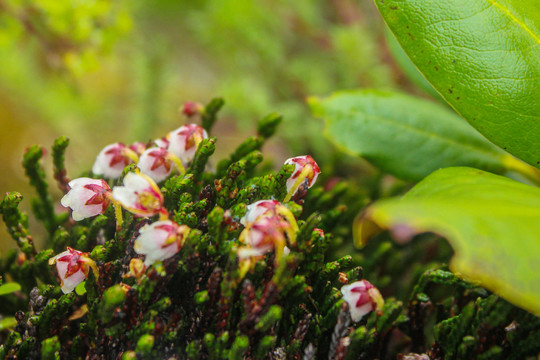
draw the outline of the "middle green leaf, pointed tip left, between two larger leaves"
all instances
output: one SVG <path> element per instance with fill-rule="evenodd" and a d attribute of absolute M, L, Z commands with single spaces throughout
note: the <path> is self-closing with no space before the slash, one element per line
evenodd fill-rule
<path fill-rule="evenodd" d="M 309 103 L 315 116 L 325 119 L 326 135 L 336 145 L 406 180 L 421 180 L 448 166 L 501 173 L 518 162 L 431 101 L 361 90 L 310 98 Z"/>

